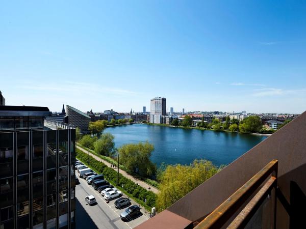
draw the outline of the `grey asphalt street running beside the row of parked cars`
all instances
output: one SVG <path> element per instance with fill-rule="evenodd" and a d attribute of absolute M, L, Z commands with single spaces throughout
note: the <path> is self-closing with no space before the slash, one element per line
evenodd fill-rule
<path fill-rule="evenodd" d="M 75 187 L 75 197 L 77 198 L 77 213 L 75 217 L 75 225 L 77 229 L 81 228 L 134 228 L 140 223 L 146 221 L 148 216 L 146 214 L 140 214 L 139 217 L 129 221 L 124 222 L 120 218 L 120 213 L 124 211 L 118 210 L 114 206 L 115 199 L 110 201 L 109 204 L 106 203 L 103 196 L 94 190 L 91 185 L 79 178 L 80 184 Z M 89 206 L 85 201 L 85 196 L 94 195 L 97 204 Z M 124 195 L 123 195 L 124 197 Z M 132 204 L 135 204 L 132 201 Z M 144 209 L 141 209 L 144 212 Z"/>

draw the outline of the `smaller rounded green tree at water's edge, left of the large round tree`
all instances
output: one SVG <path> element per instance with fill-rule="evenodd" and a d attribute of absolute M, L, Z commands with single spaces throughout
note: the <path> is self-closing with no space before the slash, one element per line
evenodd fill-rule
<path fill-rule="evenodd" d="M 111 133 L 103 133 L 100 138 L 94 142 L 94 151 L 100 155 L 113 155 L 115 152 L 114 138 L 114 135 Z"/>

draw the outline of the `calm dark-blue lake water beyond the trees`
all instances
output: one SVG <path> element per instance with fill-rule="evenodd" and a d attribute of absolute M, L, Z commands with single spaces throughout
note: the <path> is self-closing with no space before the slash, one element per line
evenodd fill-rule
<path fill-rule="evenodd" d="M 190 164 L 194 159 L 211 160 L 215 165 L 228 164 L 264 140 L 266 136 L 149 126 L 143 124 L 107 127 L 115 136 L 115 145 L 148 140 L 154 145 L 151 160 L 158 166 Z"/>

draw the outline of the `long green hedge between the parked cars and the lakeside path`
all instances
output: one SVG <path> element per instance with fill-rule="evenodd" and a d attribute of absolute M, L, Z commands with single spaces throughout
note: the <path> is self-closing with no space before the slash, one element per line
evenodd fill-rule
<path fill-rule="evenodd" d="M 117 183 L 117 171 L 114 169 L 108 167 L 103 162 L 97 161 L 92 156 L 88 156 L 88 154 L 79 149 L 76 149 L 76 156 L 85 164 L 88 164 L 97 173 L 103 174 L 105 179 L 110 183 Z M 117 188 L 123 189 L 127 193 L 131 194 L 132 197 L 141 202 L 140 204 L 144 206 L 147 205 L 148 207 L 155 207 L 156 194 L 154 192 L 146 190 L 121 174 L 119 174 L 119 186 Z"/>

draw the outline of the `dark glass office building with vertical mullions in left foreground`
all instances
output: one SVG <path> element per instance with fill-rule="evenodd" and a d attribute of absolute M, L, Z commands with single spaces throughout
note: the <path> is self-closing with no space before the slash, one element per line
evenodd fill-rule
<path fill-rule="evenodd" d="M 0 106 L 0 229 L 74 228 L 75 129 L 49 115 Z"/>

